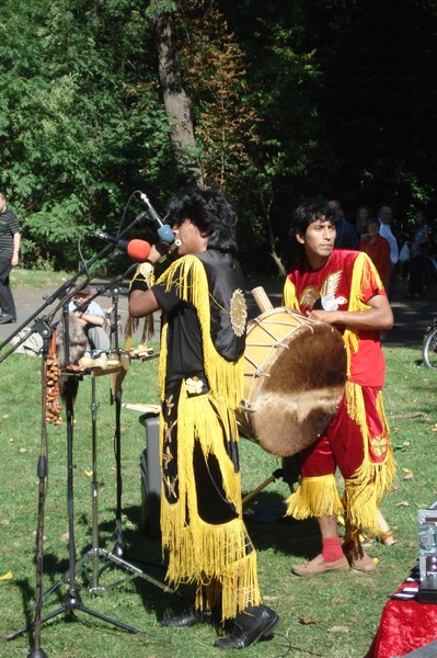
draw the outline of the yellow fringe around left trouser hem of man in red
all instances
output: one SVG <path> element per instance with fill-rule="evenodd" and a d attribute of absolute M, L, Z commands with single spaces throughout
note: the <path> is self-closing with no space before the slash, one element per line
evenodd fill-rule
<path fill-rule="evenodd" d="M 299 521 L 343 514 L 344 511 L 334 475 L 302 478 L 298 489 L 288 498 L 287 506 L 286 515 Z"/>

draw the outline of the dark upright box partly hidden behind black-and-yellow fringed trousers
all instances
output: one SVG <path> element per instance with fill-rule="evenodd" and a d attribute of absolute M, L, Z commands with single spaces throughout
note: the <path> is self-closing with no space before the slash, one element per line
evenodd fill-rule
<path fill-rule="evenodd" d="M 161 466 L 159 461 L 159 413 L 148 412 L 139 418 L 146 428 L 146 449 L 140 456 L 141 526 L 151 537 L 161 536 Z"/>

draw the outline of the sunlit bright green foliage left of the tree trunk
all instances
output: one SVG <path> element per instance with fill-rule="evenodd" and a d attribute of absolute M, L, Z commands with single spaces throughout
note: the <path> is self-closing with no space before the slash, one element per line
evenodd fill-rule
<path fill-rule="evenodd" d="M 71 268 L 85 227 L 114 229 L 134 189 L 174 178 L 151 32 L 135 1 L 8 2 L 3 16 L 2 188 L 26 264 Z"/>

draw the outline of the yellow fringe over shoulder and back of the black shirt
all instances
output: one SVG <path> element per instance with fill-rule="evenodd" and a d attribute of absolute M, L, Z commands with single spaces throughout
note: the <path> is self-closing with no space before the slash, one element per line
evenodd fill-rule
<path fill-rule="evenodd" d="M 160 276 L 158 284 L 165 284 L 166 290 L 175 286 L 181 299 L 193 304 L 196 308 L 202 330 L 205 373 L 211 395 L 215 399 L 222 399 L 228 407 L 237 409 L 243 396 L 244 355 L 238 362 L 230 362 L 220 356 L 216 351 L 210 332 L 208 280 L 202 261 L 195 256 L 185 256 L 179 259 Z M 159 367 L 162 399 L 164 395 L 166 364 L 165 339 L 166 327 L 161 341 L 164 349 L 161 349 Z"/>

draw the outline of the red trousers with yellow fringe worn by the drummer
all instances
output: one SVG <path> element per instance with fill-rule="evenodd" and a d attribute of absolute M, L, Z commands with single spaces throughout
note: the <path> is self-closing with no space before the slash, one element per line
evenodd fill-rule
<path fill-rule="evenodd" d="M 377 511 L 395 473 L 388 436 L 381 390 L 348 382 L 325 434 L 301 453 L 301 479 L 287 501 L 287 515 L 343 514 L 346 542 L 356 542 L 359 531 L 380 534 Z M 336 466 L 344 477 L 343 500 Z"/>

